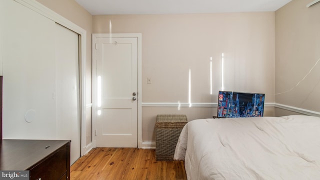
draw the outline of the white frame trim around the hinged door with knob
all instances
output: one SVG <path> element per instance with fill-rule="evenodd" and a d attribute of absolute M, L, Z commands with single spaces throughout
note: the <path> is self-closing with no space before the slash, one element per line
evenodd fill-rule
<path fill-rule="evenodd" d="M 137 117 L 137 148 L 142 147 L 142 83 L 141 83 L 141 75 L 142 75 L 142 65 L 141 65 L 141 33 L 92 33 L 92 143 L 93 146 L 96 147 L 96 50 L 95 43 L 97 37 L 136 37 L 138 40 L 138 59 L 137 59 L 137 67 L 138 67 L 138 117 Z"/>

